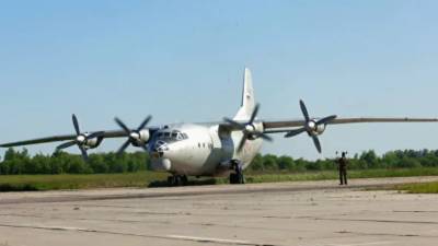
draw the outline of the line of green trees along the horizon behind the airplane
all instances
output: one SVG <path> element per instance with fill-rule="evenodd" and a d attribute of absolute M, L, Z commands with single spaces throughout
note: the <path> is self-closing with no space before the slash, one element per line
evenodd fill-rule
<path fill-rule="evenodd" d="M 349 169 L 438 167 L 438 150 L 390 151 L 379 156 L 374 151 L 365 151 L 348 159 Z M 58 152 L 53 155 L 30 155 L 26 149 L 9 149 L 0 162 L 0 175 L 19 174 L 105 174 L 147 171 L 150 160 L 145 152 L 117 154 L 90 154 L 84 162 L 80 155 Z M 335 159 L 309 161 L 291 156 L 257 154 L 249 172 L 307 172 L 336 169 Z"/>

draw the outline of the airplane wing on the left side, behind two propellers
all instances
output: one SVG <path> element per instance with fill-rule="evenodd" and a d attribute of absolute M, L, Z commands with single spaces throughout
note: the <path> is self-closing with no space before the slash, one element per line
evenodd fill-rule
<path fill-rule="evenodd" d="M 93 132 L 90 132 L 90 133 L 93 133 Z M 127 137 L 126 132 L 123 130 L 111 130 L 111 131 L 104 131 L 104 133 L 103 133 L 104 139 L 123 138 L 123 137 Z M 69 141 L 69 140 L 74 140 L 76 138 L 77 138 L 76 134 L 60 134 L 60 136 L 53 136 L 53 137 L 46 137 L 46 138 L 24 140 L 24 141 L 19 141 L 19 142 L 2 143 L 2 144 L 0 144 L 0 148 L 22 147 L 22 145 L 31 145 L 31 144 L 38 144 L 38 143 Z"/>

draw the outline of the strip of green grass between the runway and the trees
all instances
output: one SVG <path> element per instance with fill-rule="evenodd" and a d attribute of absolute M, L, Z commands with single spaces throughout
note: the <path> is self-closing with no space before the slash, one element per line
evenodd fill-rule
<path fill-rule="evenodd" d="M 438 168 L 368 169 L 350 171 L 349 178 L 438 176 Z M 91 189 L 116 187 L 159 187 L 165 186 L 168 174 L 139 172 L 127 174 L 90 175 L 8 175 L 0 176 L 0 191 L 33 191 L 57 189 Z M 337 179 L 336 171 L 306 173 L 250 173 L 246 183 L 278 183 Z M 200 179 L 191 185 L 228 184 L 227 178 Z"/>

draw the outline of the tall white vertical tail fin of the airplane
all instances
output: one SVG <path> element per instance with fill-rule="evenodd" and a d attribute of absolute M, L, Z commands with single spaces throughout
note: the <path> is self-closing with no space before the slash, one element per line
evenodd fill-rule
<path fill-rule="evenodd" d="M 243 77 L 242 106 L 234 117 L 234 120 L 249 120 L 255 107 L 253 79 L 250 69 L 245 68 Z"/>

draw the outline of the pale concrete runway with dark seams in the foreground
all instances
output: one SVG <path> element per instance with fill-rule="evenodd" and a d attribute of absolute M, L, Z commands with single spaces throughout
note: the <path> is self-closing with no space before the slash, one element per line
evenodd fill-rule
<path fill-rule="evenodd" d="M 0 246 L 436 245 L 438 177 L 0 194 Z"/>

